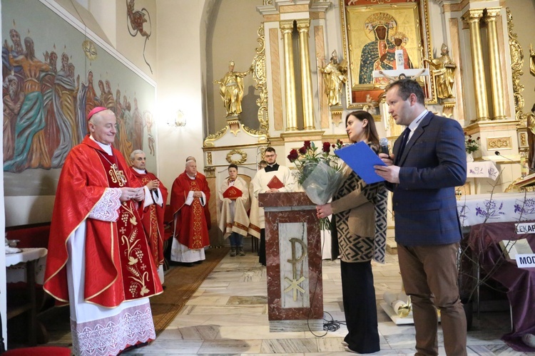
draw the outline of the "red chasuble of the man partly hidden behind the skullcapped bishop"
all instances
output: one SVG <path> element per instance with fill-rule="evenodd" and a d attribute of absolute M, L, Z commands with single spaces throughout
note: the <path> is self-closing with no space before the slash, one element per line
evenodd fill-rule
<path fill-rule="evenodd" d="M 145 174 L 141 174 L 138 173 L 136 169 L 133 169 L 133 167 L 130 168 L 132 174 L 136 176 L 143 187 L 145 187 L 148 182 L 158 179 L 152 173 L 145 171 Z M 151 247 L 151 253 L 156 262 L 156 266 L 163 263 L 163 212 L 165 211 L 165 203 L 167 202 L 168 194 L 167 188 L 163 186 L 160 179 L 158 179 L 158 182 L 160 182 L 163 206 L 151 204 L 143 209 L 143 229 L 145 229 L 148 245 Z"/>

